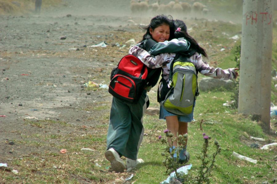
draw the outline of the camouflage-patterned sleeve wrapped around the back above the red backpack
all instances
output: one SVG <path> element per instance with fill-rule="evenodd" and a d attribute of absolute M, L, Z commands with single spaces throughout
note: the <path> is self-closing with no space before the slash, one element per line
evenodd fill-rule
<path fill-rule="evenodd" d="M 138 57 L 141 62 L 149 68 L 159 68 L 162 67 L 164 63 L 163 54 L 152 57 L 146 50 L 139 48 L 138 46 L 130 48 L 129 54 Z"/>

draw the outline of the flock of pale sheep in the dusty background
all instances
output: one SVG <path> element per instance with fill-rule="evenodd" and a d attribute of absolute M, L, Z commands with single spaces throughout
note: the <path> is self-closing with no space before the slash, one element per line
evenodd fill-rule
<path fill-rule="evenodd" d="M 159 14 L 185 14 L 194 13 L 195 15 L 204 15 L 209 11 L 205 5 L 200 2 L 179 2 L 179 0 L 170 1 L 167 4 L 160 4 L 159 0 L 149 4 L 149 0 L 131 0 L 130 9 L 133 14 L 144 14 L 147 12 Z"/>

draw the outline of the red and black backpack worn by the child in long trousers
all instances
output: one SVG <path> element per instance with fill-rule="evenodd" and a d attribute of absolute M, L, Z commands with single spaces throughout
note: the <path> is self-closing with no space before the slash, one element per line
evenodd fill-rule
<path fill-rule="evenodd" d="M 154 40 L 146 40 L 140 47 L 148 51 L 156 43 Z M 134 55 L 123 56 L 111 72 L 109 93 L 116 98 L 136 103 L 147 86 L 155 86 L 160 73 L 161 68 L 148 68 Z"/>

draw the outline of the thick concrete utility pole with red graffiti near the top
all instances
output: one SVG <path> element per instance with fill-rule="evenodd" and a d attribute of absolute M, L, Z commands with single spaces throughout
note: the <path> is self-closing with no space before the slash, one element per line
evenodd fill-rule
<path fill-rule="evenodd" d="M 257 115 L 270 129 L 273 0 L 244 0 L 239 113 Z"/>

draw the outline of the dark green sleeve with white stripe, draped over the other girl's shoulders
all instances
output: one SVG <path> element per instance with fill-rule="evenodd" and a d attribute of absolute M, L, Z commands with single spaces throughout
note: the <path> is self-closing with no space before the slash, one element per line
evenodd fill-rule
<path fill-rule="evenodd" d="M 158 42 L 151 47 L 149 53 L 156 56 L 160 53 L 185 52 L 190 48 L 190 43 L 184 38 L 172 39 L 171 41 Z"/>

